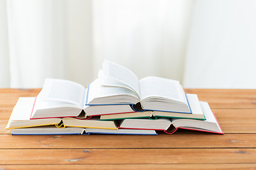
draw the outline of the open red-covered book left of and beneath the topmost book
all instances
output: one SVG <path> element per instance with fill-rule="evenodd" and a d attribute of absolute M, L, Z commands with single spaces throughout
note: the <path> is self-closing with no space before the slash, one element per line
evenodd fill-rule
<path fill-rule="evenodd" d="M 92 115 L 130 113 L 129 105 L 85 106 L 86 89 L 73 81 L 46 79 L 36 97 L 31 119 L 36 118 L 87 118 Z"/>

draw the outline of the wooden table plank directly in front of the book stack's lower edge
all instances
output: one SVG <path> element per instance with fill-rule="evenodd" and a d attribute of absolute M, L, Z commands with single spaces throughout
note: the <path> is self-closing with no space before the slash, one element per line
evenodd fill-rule
<path fill-rule="evenodd" d="M 0 135 L 0 149 L 36 148 L 255 148 L 256 134 Z"/>

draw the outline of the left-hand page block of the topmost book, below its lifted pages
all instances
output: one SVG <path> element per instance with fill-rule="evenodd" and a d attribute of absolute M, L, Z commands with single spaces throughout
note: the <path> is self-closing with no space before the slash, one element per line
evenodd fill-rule
<path fill-rule="evenodd" d="M 107 100 L 105 99 L 107 98 Z M 87 92 L 87 105 L 137 103 L 139 99 L 129 89 L 112 86 L 101 86 L 100 80 L 95 79 Z"/>

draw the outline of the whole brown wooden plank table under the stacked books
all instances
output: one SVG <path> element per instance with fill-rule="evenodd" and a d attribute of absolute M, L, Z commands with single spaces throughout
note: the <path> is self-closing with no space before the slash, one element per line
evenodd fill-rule
<path fill-rule="evenodd" d="M 256 169 L 256 90 L 186 89 L 208 101 L 225 135 L 11 136 L 18 97 L 40 89 L 0 89 L 0 169 Z"/>

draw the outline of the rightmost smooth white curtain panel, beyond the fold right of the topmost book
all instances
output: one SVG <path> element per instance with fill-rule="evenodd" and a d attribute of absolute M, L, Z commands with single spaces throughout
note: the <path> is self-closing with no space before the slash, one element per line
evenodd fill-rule
<path fill-rule="evenodd" d="M 196 1 L 183 85 L 256 88 L 256 1 Z"/>

